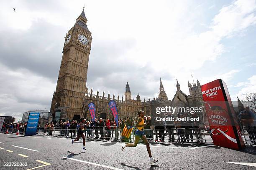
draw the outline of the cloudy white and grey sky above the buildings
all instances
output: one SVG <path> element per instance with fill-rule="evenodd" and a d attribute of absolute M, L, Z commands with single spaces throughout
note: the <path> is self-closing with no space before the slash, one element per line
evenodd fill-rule
<path fill-rule="evenodd" d="M 168 98 L 222 78 L 231 98 L 256 92 L 255 0 L 6 0 L 0 6 L 0 115 L 50 109 L 64 37 L 85 4 L 92 32 L 87 85 L 120 98 Z M 15 12 L 13 10 L 15 8 Z"/>

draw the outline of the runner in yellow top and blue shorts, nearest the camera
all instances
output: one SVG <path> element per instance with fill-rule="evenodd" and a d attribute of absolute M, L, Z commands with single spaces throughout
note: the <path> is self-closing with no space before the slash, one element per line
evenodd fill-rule
<path fill-rule="evenodd" d="M 153 163 L 156 163 L 158 160 L 156 159 L 153 159 L 152 158 L 152 155 L 151 155 L 151 150 L 150 150 L 150 147 L 149 147 L 149 143 L 148 143 L 148 140 L 146 138 L 146 136 L 144 135 L 144 127 L 146 126 L 146 123 L 144 123 L 144 112 L 142 110 L 138 111 L 138 122 L 136 123 L 135 127 L 138 128 L 138 130 L 136 130 L 135 132 L 135 141 L 134 143 L 128 143 L 128 144 L 123 144 L 121 150 L 124 150 L 125 147 L 136 147 L 137 144 L 138 144 L 138 141 L 140 139 L 143 140 L 144 144 L 147 146 L 147 151 L 148 151 L 148 155 L 149 155 L 149 158 L 150 158 L 150 164 L 153 164 Z"/>

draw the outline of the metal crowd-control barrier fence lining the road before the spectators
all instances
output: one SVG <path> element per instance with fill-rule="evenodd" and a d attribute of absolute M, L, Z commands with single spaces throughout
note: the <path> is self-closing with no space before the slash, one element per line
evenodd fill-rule
<path fill-rule="evenodd" d="M 87 127 L 84 129 L 85 138 L 89 139 L 106 139 L 106 140 L 121 140 L 125 142 L 133 142 L 135 138 L 135 131 L 133 129 L 130 138 L 125 138 L 121 136 L 121 129 L 115 129 L 116 127 Z M 2 133 L 15 134 L 19 129 L 19 134 L 23 135 L 26 132 L 24 128 L 3 128 Z M 251 145 L 256 143 L 256 127 L 241 127 L 241 135 L 244 141 Z M 189 142 L 189 143 L 212 143 L 212 134 L 210 127 L 196 126 L 196 127 L 184 127 L 180 125 L 175 125 L 173 128 L 157 128 L 157 129 L 144 129 L 144 134 L 146 138 L 153 142 Z M 76 138 L 77 128 L 70 127 L 54 127 L 54 128 L 44 128 L 39 127 L 37 129 L 37 135 L 49 135 L 53 137 L 67 137 Z"/>

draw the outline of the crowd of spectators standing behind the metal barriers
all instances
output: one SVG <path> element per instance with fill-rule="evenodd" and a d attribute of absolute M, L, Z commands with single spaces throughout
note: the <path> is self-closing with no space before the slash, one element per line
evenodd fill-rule
<path fill-rule="evenodd" d="M 172 115 L 165 115 L 172 116 Z M 177 117 L 197 117 L 196 114 L 190 115 L 188 113 L 178 114 Z M 86 120 L 84 134 L 86 138 L 99 138 L 99 139 L 114 139 L 118 140 L 121 138 L 120 134 L 122 133 L 125 125 L 133 126 L 137 122 L 138 118 L 124 117 L 123 119 L 118 120 L 118 127 L 116 125 L 115 120 L 100 118 L 99 120 L 95 118 L 94 121 Z M 187 119 L 186 119 L 187 120 Z M 153 142 L 155 135 L 155 142 L 165 142 L 167 139 L 168 142 L 196 142 L 202 143 L 202 133 L 201 128 L 205 128 L 207 133 L 209 133 L 211 139 L 212 134 L 209 126 L 204 125 L 200 126 L 199 121 L 173 121 L 173 122 L 164 122 L 162 124 L 153 125 L 150 116 L 144 117 L 144 122 L 146 123 L 144 128 L 144 133 L 148 141 Z M 249 107 L 243 108 L 243 110 L 238 114 L 238 121 L 240 122 L 242 130 L 246 130 L 248 133 L 249 140 L 253 145 L 256 145 L 256 112 L 254 110 L 250 110 Z M 70 121 L 59 121 L 58 123 L 46 123 L 44 125 L 44 133 L 43 135 L 53 135 L 53 131 L 55 135 L 61 136 L 69 136 L 75 137 L 77 133 L 79 122 L 77 120 Z M 201 124 L 202 125 L 202 124 Z M 26 123 L 7 123 L 3 125 L 3 130 L 9 129 L 9 133 L 16 133 L 19 130 L 20 134 L 26 132 Z M 42 127 L 39 128 L 38 130 Z M 118 129 L 118 130 L 117 130 Z M 136 129 L 136 128 L 135 128 Z M 175 138 L 174 130 L 177 131 L 178 139 Z M 57 133 L 57 134 L 56 134 Z M 134 135 L 134 131 L 132 133 Z M 131 135 L 131 136 L 132 136 Z M 167 138 L 168 135 L 168 138 Z M 210 139 L 210 140 L 211 140 Z M 131 137 L 126 140 L 131 140 Z"/>

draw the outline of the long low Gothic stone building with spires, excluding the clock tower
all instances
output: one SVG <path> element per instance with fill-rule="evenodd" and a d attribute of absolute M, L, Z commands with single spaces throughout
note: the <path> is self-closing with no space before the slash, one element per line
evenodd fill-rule
<path fill-rule="evenodd" d="M 96 106 L 96 117 L 97 118 L 110 118 L 113 119 L 112 113 L 108 109 L 108 102 L 110 100 L 115 100 L 118 106 L 118 115 L 119 118 L 123 119 L 124 117 L 136 117 L 138 110 L 143 110 L 145 115 L 150 115 L 151 117 L 156 114 L 156 107 L 166 107 L 166 106 L 179 106 L 179 107 L 202 107 L 204 105 L 202 99 L 202 92 L 200 82 L 197 80 L 197 84 L 195 82 L 193 85 L 188 83 L 189 87 L 189 95 L 184 94 L 182 90 L 180 90 L 180 85 L 177 80 L 177 91 L 172 100 L 168 100 L 166 92 L 164 91 L 164 86 L 162 84 L 160 78 L 160 87 L 159 87 L 159 95 L 158 97 L 154 97 L 153 100 L 150 100 L 148 97 L 148 101 L 145 99 L 141 101 L 141 97 L 138 94 L 136 100 L 131 99 L 131 91 L 129 84 L 127 82 L 125 87 L 125 100 L 123 98 L 120 99 L 119 95 L 115 98 L 115 94 L 110 98 L 110 94 L 108 93 L 108 97 L 105 97 L 105 92 L 103 91 L 102 95 L 99 95 L 99 90 L 97 94 L 94 95 L 92 88 L 90 92 L 88 92 L 88 88 L 86 87 L 86 94 L 84 96 L 84 103 L 89 104 L 93 102 Z M 86 107 L 86 106 L 85 106 Z M 178 112 L 175 112 L 176 115 Z M 202 113 L 201 120 L 204 117 L 204 113 Z M 87 117 L 90 118 L 90 115 L 87 114 Z"/>

